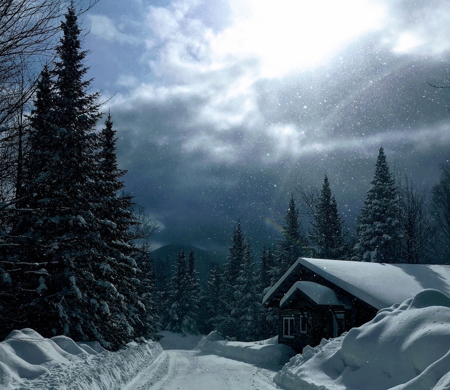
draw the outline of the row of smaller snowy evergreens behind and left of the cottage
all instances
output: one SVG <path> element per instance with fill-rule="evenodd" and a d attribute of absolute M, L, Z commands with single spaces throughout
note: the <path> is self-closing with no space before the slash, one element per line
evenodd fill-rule
<path fill-rule="evenodd" d="M 238 222 L 227 262 L 215 267 L 203 286 L 192 269 L 181 272 L 185 255 L 180 252 L 169 298 L 162 305 L 163 327 L 179 333 L 217 330 L 242 341 L 276 335 L 278 311 L 263 307 L 262 298 L 301 256 L 450 264 L 449 167 L 442 169 L 429 199 L 426 189 L 414 185 L 400 170 L 396 175 L 389 171 L 381 147 L 352 236 L 346 234 L 326 174 L 320 191 L 299 190 L 298 197 L 298 203 L 293 194 L 289 200 L 276 246 L 264 245 L 256 261 Z M 186 277 L 190 281 L 183 281 Z"/>

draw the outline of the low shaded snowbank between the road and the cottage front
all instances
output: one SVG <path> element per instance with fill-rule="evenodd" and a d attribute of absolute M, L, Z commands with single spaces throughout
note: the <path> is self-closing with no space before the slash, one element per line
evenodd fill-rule
<path fill-rule="evenodd" d="M 213 353 L 261 367 L 280 367 L 294 354 L 287 345 L 278 344 L 278 336 L 267 340 L 243 342 L 217 340 L 219 334 L 212 332 L 198 346 L 203 353 Z"/>

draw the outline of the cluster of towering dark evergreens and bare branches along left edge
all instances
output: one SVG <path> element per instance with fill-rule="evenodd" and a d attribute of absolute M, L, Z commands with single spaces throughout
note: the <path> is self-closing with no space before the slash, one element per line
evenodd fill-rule
<path fill-rule="evenodd" d="M 26 28 L 43 17 L 38 6 L 58 16 L 58 2 L 7 2 L 0 26 L 15 18 Z M 23 9 L 28 14 L 16 14 Z M 50 19 L 44 27 L 52 36 Z M 54 59 L 29 87 L 31 114 L 25 115 L 25 98 L 19 104 L 3 95 L 0 102 L 0 336 L 33 328 L 46 337 L 64 334 L 116 349 L 159 332 L 147 249 L 136 245 L 152 225 L 142 224 L 132 198 L 123 194 L 125 171 L 117 166 L 109 114 L 97 129 L 103 115 L 99 94 L 88 93 L 73 2 L 61 31 L 54 54 L 46 52 Z M 0 57 L 8 49 L 2 45 Z M 24 64 L 12 62 L 20 60 L 13 54 L 0 58 L 0 75 L 11 84 Z"/>

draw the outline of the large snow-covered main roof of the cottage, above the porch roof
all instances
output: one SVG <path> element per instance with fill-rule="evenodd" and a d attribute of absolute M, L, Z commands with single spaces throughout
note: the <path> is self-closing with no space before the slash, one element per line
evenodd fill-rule
<path fill-rule="evenodd" d="M 427 264 L 384 264 L 299 258 L 264 296 L 263 303 L 281 299 L 293 279 L 306 269 L 317 274 L 376 309 L 414 297 L 425 288 L 450 296 L 450 266 Z"/>

